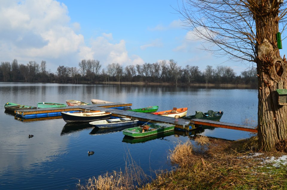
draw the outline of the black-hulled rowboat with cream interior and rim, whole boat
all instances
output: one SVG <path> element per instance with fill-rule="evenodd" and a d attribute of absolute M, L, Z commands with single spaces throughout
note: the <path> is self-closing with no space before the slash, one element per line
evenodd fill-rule
<path fill-rule="evenodd" d="M 91 122 L 101 119 L 109 119 L 112 113 L 105 111 L 76 111 L 73 113 L 62 111 L 62 118 L 65 122 Z"/>

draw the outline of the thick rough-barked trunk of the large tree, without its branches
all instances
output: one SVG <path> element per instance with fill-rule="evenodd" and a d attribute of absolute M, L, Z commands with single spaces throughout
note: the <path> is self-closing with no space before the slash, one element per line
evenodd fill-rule
<path fill-rule="evenodd" d="M 259 85 L 258 144 L 263 151 L 277 151 L 277 143 L 287 139 L 287 105 L 278 105 L 276 92 L 279 82 L 287 89 L 287 65 L 277 48 L 278 7 L 274 9 L 272 1 L 263 0 L 258 14 L 254 15 Z"/>

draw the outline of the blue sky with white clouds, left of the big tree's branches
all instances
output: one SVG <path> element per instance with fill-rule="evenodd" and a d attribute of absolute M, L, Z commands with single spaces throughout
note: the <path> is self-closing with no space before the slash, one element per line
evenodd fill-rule
<path fill-rule="evenodd" d="M 17 59 L 77 67 L 82 59 L 108 64 L 155 63 L 174 59 L 179 66 L 246 66 L 225 62 L 201 50 L 181 23 L 176 0 L 1 0 L 0 62 Z M 284 45 L 283 45 L 284 46 Z M 281 52 L 281 51 L 280 51 Z"/>

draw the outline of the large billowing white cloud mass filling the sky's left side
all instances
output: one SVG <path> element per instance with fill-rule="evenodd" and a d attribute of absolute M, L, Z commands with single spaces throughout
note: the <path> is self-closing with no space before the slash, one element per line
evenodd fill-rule
<path fill-rule="evenodd" d="M 140 62 L 138 57 L 129 58 L 124 40 L 110 42 L 112 33 L 103 33 L 88 47 L 84 36 L 76 33 L 80 23 L 70 20 L 68 7 L 55 0 L 4 1 L 0 7 L 0 62 L 45 60 L 51 72 L 59 65 L 78 67 L 81 59 L 97 59 L 103 67 L 113 62 Z"/>

